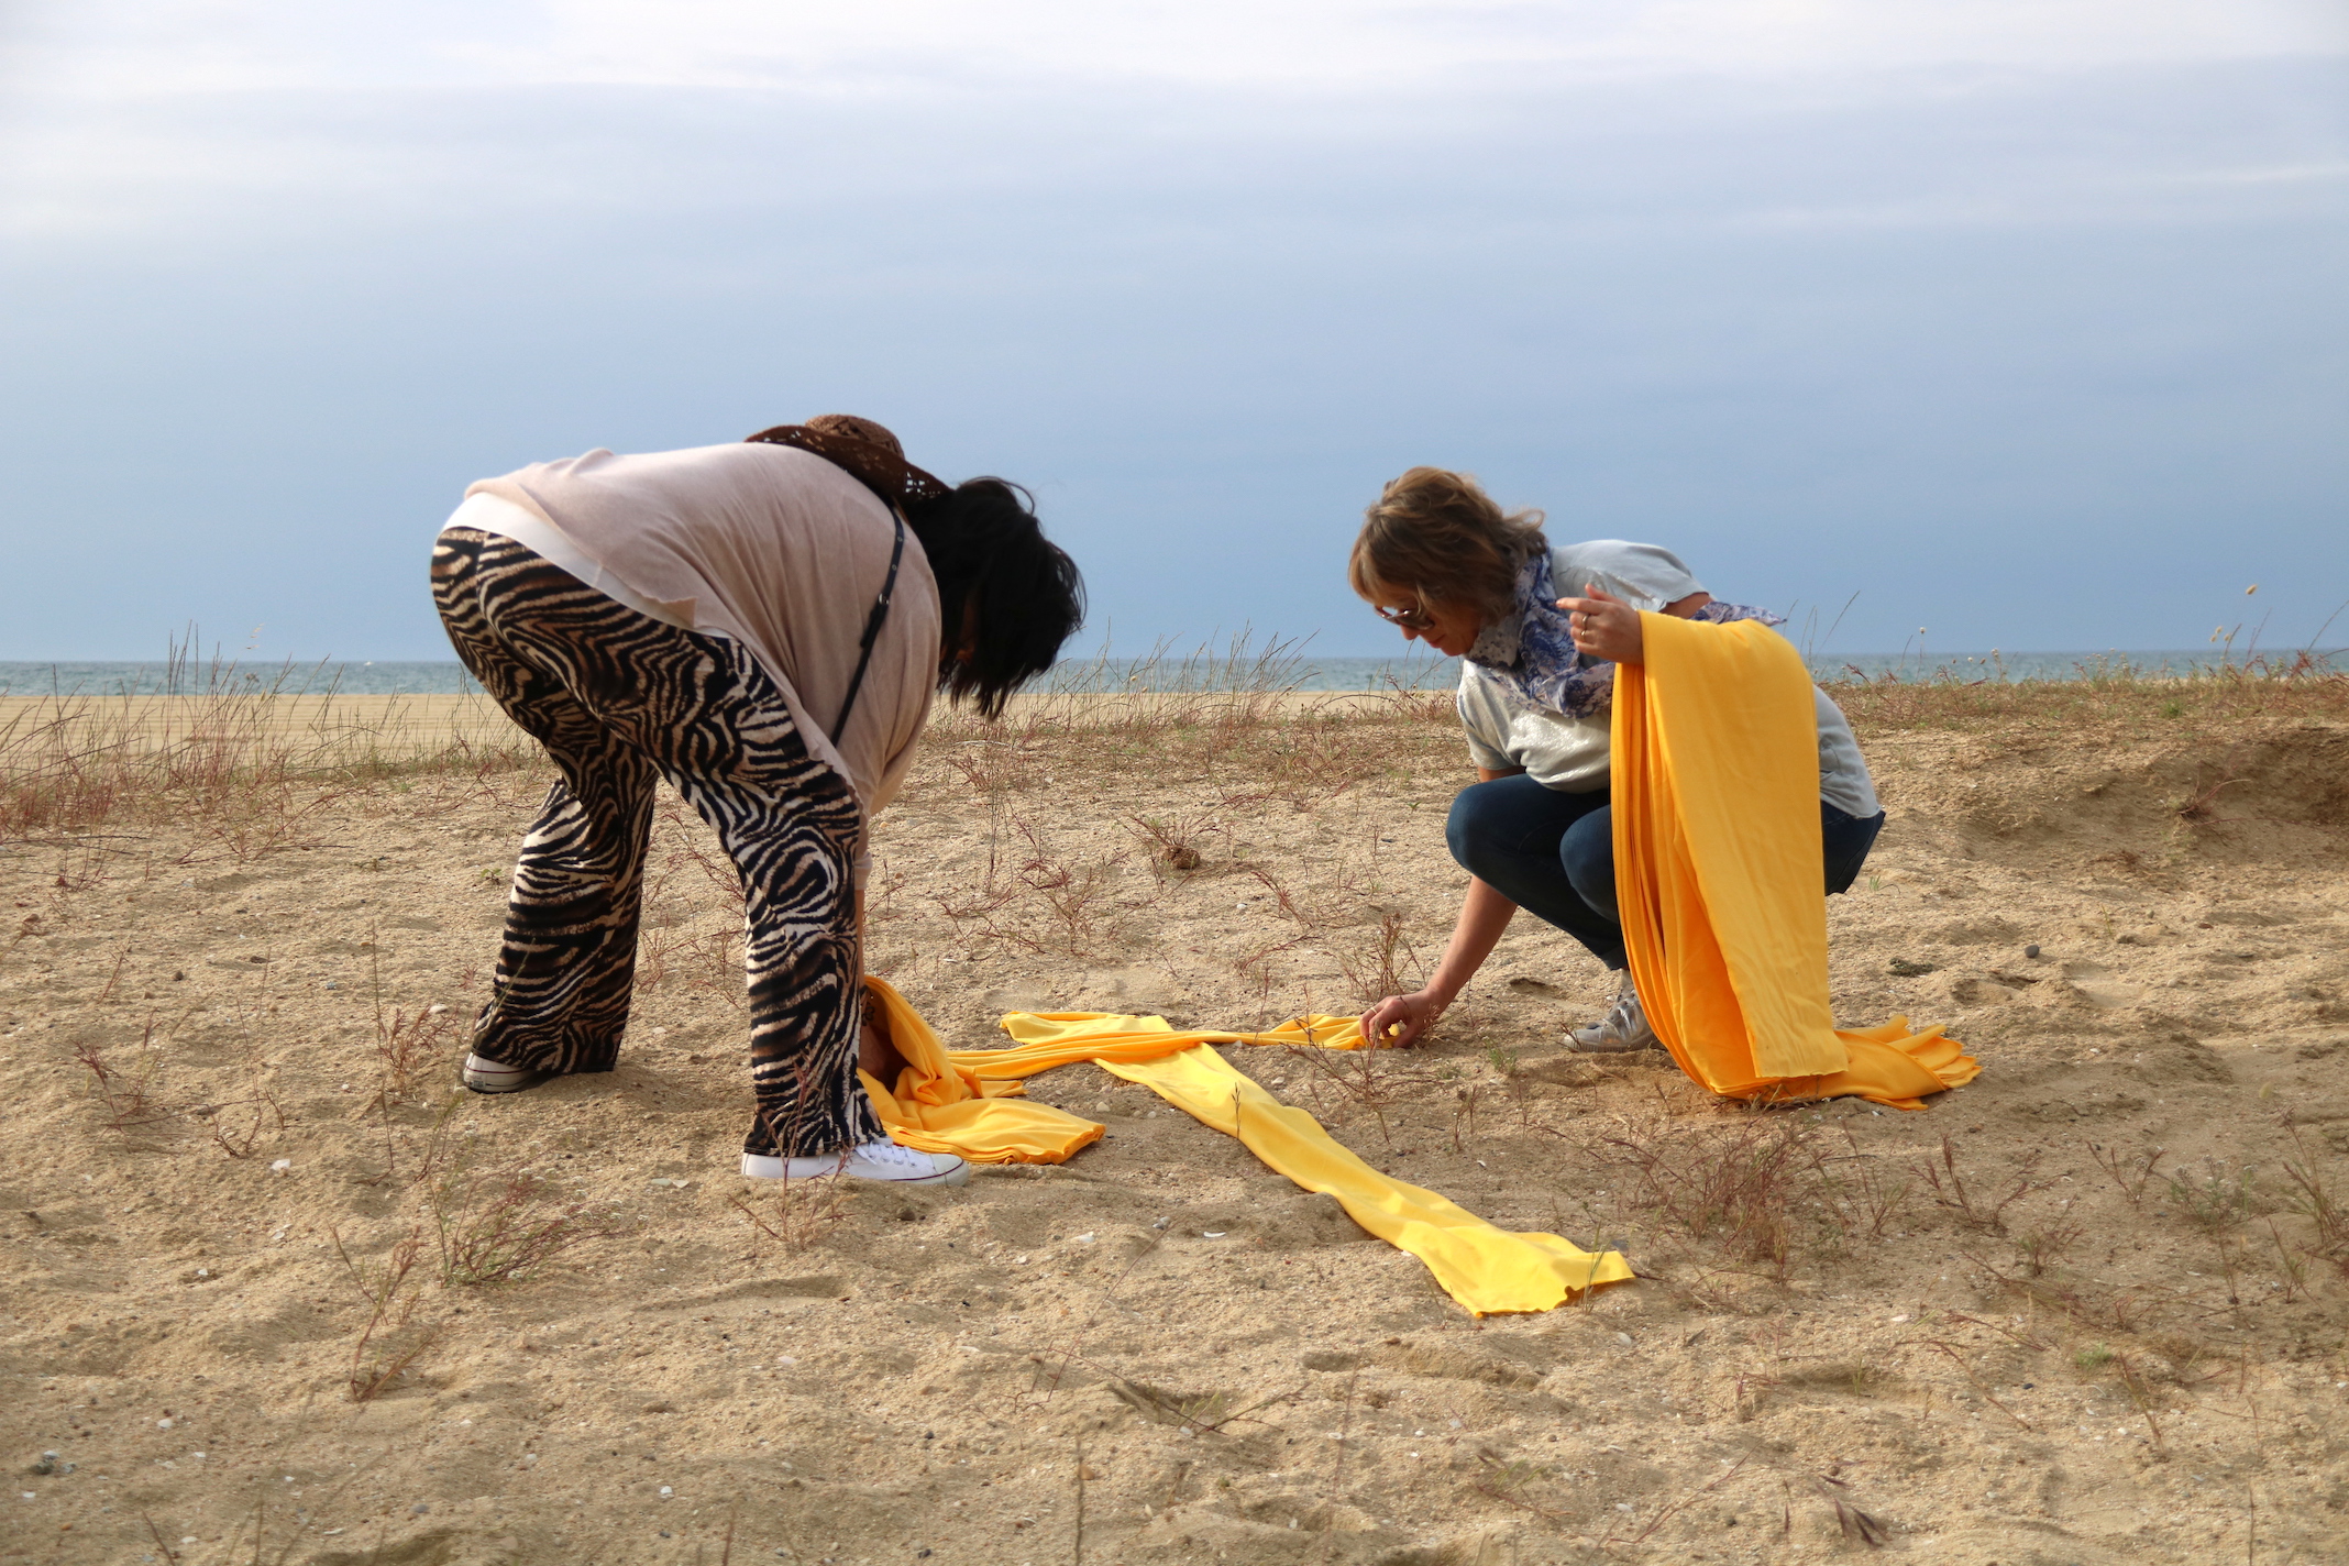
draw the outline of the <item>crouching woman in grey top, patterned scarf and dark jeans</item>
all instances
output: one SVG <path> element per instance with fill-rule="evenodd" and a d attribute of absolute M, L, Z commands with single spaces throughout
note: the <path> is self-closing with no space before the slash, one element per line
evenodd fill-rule
<path fill-rule="evenodd" d="M 1616 918 L 1607 808 L 1614 667 L 1642 660 L 1640 610 L 1769 625 L 1778 615 L 1715 601 L 1656 545 L 1600 538 L 1550 547 L 1541 512 L 1506 517 L 1475 479 L 1440 467 L 1414 467 L 1386 486 L 1355 538 L 1348 575 L 1405 641 L 1461 660 L 1459 714 L 1478 775 L 1445 826 L 1470 876 L 1452 944 L 1426 988 L 1362 1014 L 1362 1035 L 1416 1042 L 1517 909 L 1529 909 L 1623 974 L 1614 1010 L 1569 1042 L 1656 1049 Z M 1816 695 L 1820 845 L 1828 892 L 1842 892 L 1860 873 L 1884 810 L 1851 725 L 1825 690 Z"/>

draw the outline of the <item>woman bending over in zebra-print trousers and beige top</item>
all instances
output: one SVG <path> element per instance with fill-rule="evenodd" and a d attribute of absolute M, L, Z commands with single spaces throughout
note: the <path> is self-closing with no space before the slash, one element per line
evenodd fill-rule
<path fill-rule="evenodd" d="M 968 1165 L 895 1146 L 857 1082 L 860 1038 L 876 1075 L 895 1054 L 862 1026 L 862 885 L 930 695 L 991 718 L 1083 620 L 1024 493 L 949 488 L 843 413 L 740 446 L 590 451 L 474 484 L 432 596 L 561 772 L 521 841 L 465 1087 L 613 1068 L 667 779 L 742 876 L 742 1174 L 961 1186 Z"/>

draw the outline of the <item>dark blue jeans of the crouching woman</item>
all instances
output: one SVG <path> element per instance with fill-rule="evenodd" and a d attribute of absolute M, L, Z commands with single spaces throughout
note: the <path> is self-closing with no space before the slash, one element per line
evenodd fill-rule
<path fill-rule="evenodd" d="M 1828 801 L 1818 803 L 1830 895 L 1858 880 L 1879 831 L 1882 810 L 1856 817 Z M 1452 801 L 1445 843 L 1461 869 L 1494 892 L 1550 920 L 1607 967 L 1626 967 L 1607 789 L 1562 794 L 1525 772 L 1470 784 Z"/>

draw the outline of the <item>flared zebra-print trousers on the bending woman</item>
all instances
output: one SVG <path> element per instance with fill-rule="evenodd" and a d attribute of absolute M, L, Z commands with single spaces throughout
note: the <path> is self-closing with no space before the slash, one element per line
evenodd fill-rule
<path fill-rule="evenodd" d="M 735 641 L 639 615 L 496 533 L 439 535 L 432 599 L 458 657 L 561 772 L 521 841 L 472 1052 L 613 1068 L 665 777 L 742 876 L 759 1101 L 742 1148 L 796 1157 L 883 1139 L 855 1071 L 857 798 L 808 754 L 775 681 Z"/>

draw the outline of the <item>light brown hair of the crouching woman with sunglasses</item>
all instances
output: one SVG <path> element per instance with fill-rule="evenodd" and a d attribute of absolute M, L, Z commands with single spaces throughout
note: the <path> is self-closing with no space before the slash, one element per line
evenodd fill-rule
<path fill-rule="evenodd" d="M 1473 474 L 1414 467 L 1362 512 L 1346 580 L 1377 603 L 1409 589 L 1421 603 L 1463 603 L 1492 625 L 1517 603 L 1517 566 L 1548 549 L 1541 512 L 1501 512 Z"/>

